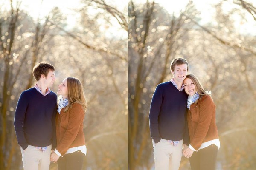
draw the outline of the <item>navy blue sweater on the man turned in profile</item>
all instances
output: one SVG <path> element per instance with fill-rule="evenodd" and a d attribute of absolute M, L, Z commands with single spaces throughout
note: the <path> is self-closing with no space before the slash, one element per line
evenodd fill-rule
<path fill-rule="evenodd" d="M 50 92 L 43 96 L 35 88 L 20 94 L 14 117 L 18 144 L 22 149 L 28 145 L 56 147 L 55 116 L 57 95 Z"/>

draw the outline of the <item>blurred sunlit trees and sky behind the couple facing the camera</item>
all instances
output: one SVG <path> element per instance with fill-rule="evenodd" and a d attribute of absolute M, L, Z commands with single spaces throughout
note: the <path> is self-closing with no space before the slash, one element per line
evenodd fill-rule
<path fill-rule="evenodd" d="M 256 169 L 256 2 L 130 0 L 128 166 L 153 170 L 148 113 L 156 86 L 183 57 L 212 91 L 221 142 L 217 170 Z M 189 170 L 182 158 L 180 170 Z"/>

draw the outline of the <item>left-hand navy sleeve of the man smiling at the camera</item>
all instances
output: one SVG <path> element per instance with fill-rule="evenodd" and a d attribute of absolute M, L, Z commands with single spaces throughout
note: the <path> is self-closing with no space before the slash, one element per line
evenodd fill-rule
<path fill-rule="evenodd" d="M 149 127 L 151 138 L 154 139 L 155 143 L 158 143 L 161 140 L 160 133 L 158 130 L 158 116 L 161 110 L 162 105 L 162 89 L 160 85 L 157 85 L 156 90 L 154 91 L 150 111 L 149 111 Z"/>

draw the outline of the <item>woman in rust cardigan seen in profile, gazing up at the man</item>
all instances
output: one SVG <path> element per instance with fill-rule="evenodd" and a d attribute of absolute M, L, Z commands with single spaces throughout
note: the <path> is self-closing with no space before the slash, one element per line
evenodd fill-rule
<path fill-rule="evenodd" d="M 83 121 L 87 106 L 83 86 L 79 79 L 67 77 L 58 85 L 57 94 L 57 147 L 51 161 L 58 160 L 58 170 L 81 170 L 86 154 Z"/>

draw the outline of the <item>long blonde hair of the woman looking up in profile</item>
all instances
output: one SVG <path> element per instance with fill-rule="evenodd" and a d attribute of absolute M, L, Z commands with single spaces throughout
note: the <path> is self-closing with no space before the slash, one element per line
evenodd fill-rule
<path fill-rule="evenodd" d="M 83 106 L 84 112 L 87 109 L 87 103 L 84 95 L 83 85 L 79 79 L 67 77 L 68 105 L 64 108 L 64 112 L 72 108 L 73 103 L 79 103 Z"/>

